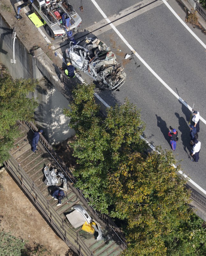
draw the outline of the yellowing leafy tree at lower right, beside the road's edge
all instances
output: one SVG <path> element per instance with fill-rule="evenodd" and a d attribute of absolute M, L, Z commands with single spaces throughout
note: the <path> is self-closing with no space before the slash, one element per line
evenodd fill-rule
<path fill-rule="evenodd" d="M 195 249 L 188 242 L 194 213 L 187 205 L 190 193 L 184 186 L 186 180 L 177 175 L 173 162 L 170 151 L 166 155 L 156 151 L 148 156 L 133 153 L 110 174 L 107 193 L 115 202 L 110 214 L 127 223 L 124 231 L 129 246 L 123 255 L 172 256 L 176 249 L 180 252 L 179 247 L 184 250 L 177 255 L 192 255 L 186 249 L 196 252 L 201 247 L 200 240 L 205 242 L 200 221 L 196 222 L 195 237 L 202 238 L 193 240 Z"/>

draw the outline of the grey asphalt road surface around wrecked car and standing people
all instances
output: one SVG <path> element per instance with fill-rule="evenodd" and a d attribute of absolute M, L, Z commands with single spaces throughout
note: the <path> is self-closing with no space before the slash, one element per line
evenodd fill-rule
<path fill-rule="evenodd" d="M 83 1 L 84 2 L 84 1 Z M 151 3 L 152 2 L 152 3 Z M 98 90 L 99 96 L 109 105 L 122 104 L 127 97 L 142 110 L 146 123 L 145 138 L 153 145 L 170 150 L 168 128 L 171 125 L 179 132 L 176 151 L 173 152 L 182 171 L 206 190 L 206 126 L 200 121 L 200 160 L 191 162 L 189 153 L 190 110 L 169 91 L 145 65 L 131 52 L 120 36 L 107 24 L 93 0 L 84 2 L 84 12 L 79 3 L 70 0 L 81 15 L 81 31 L 77 39 L 87 35 L 98 36 L 110 46 L 122 63 L 127 80 L 119 92 Z M 193 37 L 161 0 L 96 0 L 101 10 L 113 22 L 126 41 L 135 49 L 158 76 L 187 104 L 200 112 L 206 120 L 205 111 L 205 57 L 206 49 Z M 176 0 L 168 3 L 182 20 L 186 13 Z M 189 27 L 206 44 L 205 33 Z M 91 32 L 91 34 L 89 34 Z M 55 43 L 57 44 L 57 42 Z M 62 54 L 68 45 L 62 44 Z M 125 60 L 126 53 L 131 58 Z M 89 78 L 82 74 L 89 81 Z"/>

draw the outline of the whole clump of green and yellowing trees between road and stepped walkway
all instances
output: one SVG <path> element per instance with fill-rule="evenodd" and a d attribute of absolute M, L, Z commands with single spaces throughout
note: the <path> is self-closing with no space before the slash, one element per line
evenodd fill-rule
<path fill-rule="evenodd" d="M 121 220 L 124 256 L 203 256 L 206 227 L 188 207 L 190 193 L 172 152 L 145 154 L 140 110 L 125 100 L 102 117 L 93 89 L 77 85 L 71 111 L 64 109 L 77 136 L 76 186 L 96 209 Z"/>

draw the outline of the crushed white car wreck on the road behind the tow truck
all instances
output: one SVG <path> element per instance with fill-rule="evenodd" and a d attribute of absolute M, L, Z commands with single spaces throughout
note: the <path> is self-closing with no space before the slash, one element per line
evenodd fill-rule
<path fill-rule="evenodd" d="M 105 43 L 98 38 L 85 38 L 66 49 L 72 66 L 88 74 L 99 84 L 105 84 L 116 91 L 126 80 L 124 68 L 117 62 L 116 56 Z"/>

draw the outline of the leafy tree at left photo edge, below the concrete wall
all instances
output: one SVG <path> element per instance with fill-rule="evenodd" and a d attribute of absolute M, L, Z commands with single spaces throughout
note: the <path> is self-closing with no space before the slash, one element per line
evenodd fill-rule
<path fill-rule="evenodd" d="M 14 138 L 18 136 L 17 120 L 33 120 L 34 108 L 37 102 L 26 95 L 33 92 L 37 80 L 15 79 L 4 70 L 0 77 L 0 163 L 6 160 L 8 150 L 13 146 Z"/>

